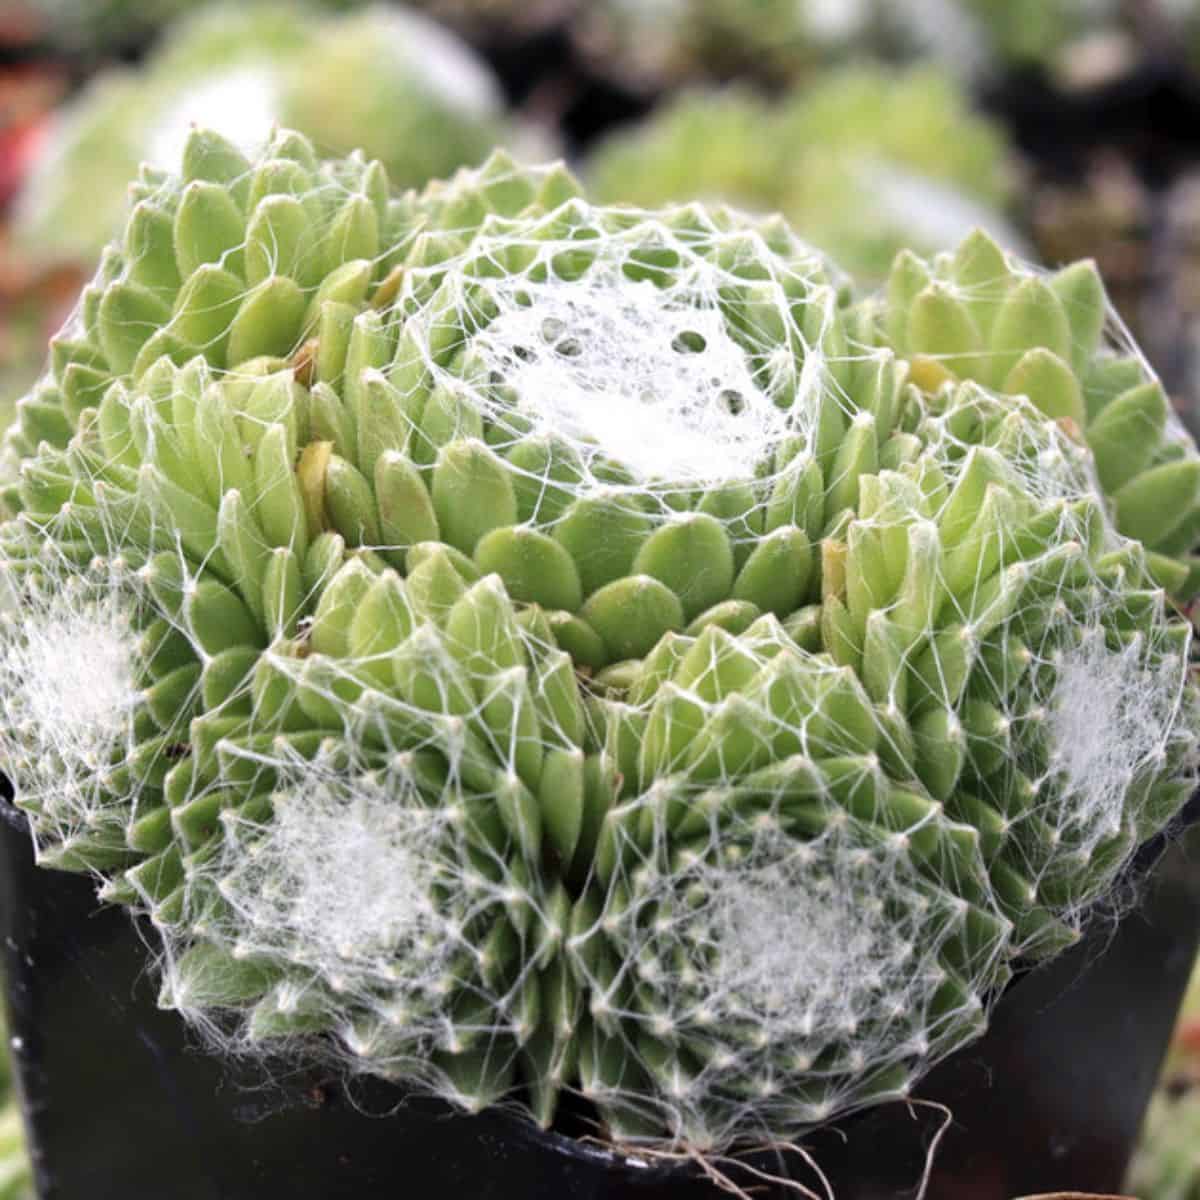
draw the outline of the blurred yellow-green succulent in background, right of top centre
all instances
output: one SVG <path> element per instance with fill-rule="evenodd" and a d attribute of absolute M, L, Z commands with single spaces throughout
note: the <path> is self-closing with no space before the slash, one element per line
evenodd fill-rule
<path fill-rule="evenodd" d="M 980 224 L 1020 242 L 1002 134 L 932 68 L 834 70 L 778 101 L 685 94 L 601 143 L 586 172 L 604 200 L 781 212 L 863 280 L 882 280 L 902 246 L 952 248 Z"/>

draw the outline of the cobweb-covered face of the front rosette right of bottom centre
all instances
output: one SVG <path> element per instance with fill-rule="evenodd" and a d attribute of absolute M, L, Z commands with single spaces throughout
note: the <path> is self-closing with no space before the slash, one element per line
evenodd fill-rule
<path fill-rule="evenodd" d="M 961 977 L 948 967 L 968 906 L 913 869 L 906 838 L 834 821 L 797 840 L 781 829 L 786 806 L 714 828 L 707 853 L 672 854 L 659 829 L 575 938 L 602 930 L 620 949 L 611 964 L 581 952 L 598 972 L 600 1030 L 652 1070 L 650 1046 L 691 1051 L 686 1067 L 655 1070 L 653 1093 L 587 1094 L 698 1150 L 907 1096 L 983 1028 L 994 997 L 977 980 L 1003 978 L 1004 923 L 958 960 Z"/>

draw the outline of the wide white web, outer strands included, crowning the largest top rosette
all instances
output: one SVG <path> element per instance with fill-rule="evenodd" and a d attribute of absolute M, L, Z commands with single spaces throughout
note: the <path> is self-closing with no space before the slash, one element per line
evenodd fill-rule
<path fill-rule="evenodd" d="M 403 337 L 434 391 L 493 422 L 499 450 L 510 431 L 578 455 L 577 479 L 546 481 L 563 499 L 668 506 L 684 488 L 752 480 L 788 437 L 811 437 L 839 390 L 829 364 L 848 356 L 826 342 L 840 283 L 828 259 L 778 218 L 676 216 L 629 209 L 605 227 L 574 199 L 534 236 L 485 222 L 469 251 L 402 284 Z M 518 272 L 497 270 L 514 257 Z M 788 311 L 800 302 L 804 328 Z M 469 331 L 449 347 L 448 317 Z"/>

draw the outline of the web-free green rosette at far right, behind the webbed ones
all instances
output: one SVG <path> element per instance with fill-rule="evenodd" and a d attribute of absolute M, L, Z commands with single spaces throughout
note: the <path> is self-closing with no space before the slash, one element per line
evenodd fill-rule
<path fill-rule="evenodd" d="M 919 378 L 1025 396 L 1076 430 L 1116 528 L 1145 546 L 1164 588 L 1194 593 L 1200 460 L 1136 349 L 1102 350 L 1108 300 L 1094 264 L 1022 274 L 973 236 L 932 264 L 902 252 L 887 292 L 887 341 Z"/>

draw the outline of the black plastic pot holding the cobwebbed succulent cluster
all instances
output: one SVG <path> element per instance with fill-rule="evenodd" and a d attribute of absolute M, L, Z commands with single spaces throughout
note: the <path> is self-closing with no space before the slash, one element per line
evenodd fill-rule
<path fill-rule="evenodd" d="M 208 1056 L 155 1007 L 150 931 L 97 906 L 89 880 L 35 868 L 24 820 L 8 804 L 0 814 L 8 1020 L 43 1200 L 724 1194 L 691 1168 L 640 1164 L 505 1112 L 457 1116 L 379 1081 L 268 1081 L 260 1066 Z M 929 1200 L 1118 1190 L 1198 932 L 1200 864 L 1176 844 L 1120 924 L 1097 923 L 1013 985 L 986 1037 L 920 1090 L 953 1114 Z M 888 1105 L 805 1147 L 838 1200 L 910 1196 L 944 1121 L 932 1106 Z M 816 1186 L 797 1154 L 754 1162 Z"/>

